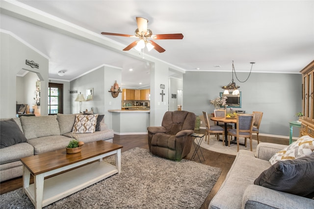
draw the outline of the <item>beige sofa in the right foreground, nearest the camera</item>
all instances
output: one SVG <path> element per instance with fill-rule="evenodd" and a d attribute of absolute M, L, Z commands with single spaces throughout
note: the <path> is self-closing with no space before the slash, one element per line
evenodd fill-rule
<path fill-rule="evenodd" d="M 255 155 L 240 150 L 209 209 L 314 209 L 313 199 L 254 184 L 261 173 L 271 167 L 269 159 L 285 147 L 263 142 L 257 146 Z"/>

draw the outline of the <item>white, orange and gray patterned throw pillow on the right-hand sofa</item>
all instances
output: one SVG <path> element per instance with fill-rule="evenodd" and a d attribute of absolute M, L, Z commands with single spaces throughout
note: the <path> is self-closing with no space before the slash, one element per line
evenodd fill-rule
<path fill-rule="evenodd" d="M 270 158 L 270 164 L 275 164 L 278 161 L 298 159 L 307 155 L 313 154 L 314 139 L 310 136 L 303 136 L 291 143 L 285 149 L 277 152 Z"/>

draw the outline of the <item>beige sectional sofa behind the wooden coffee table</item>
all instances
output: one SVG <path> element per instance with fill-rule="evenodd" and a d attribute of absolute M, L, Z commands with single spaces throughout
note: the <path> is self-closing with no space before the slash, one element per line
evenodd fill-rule
<path fill-rule="evenodd" d="M 0 149 L 0 181 L 22 176 L 21 158 L 65 148 L 71 140 L 75 118 L 74 114 L 13 118 L 27 141 Z M 76 135 L 84 143 L 97 140 L 112 142 L 114 136 L 104 120 L 100 122 L 100 131 Z"/>

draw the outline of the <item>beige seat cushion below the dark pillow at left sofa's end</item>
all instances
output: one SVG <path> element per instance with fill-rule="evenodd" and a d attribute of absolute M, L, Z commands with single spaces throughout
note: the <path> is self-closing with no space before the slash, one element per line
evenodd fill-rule
<path fill-rule="evenodd" d="M 21 158 L 34 155 L 34 147 L 26 142 L 1 149 L 0 163 L 20 161 Z"/>

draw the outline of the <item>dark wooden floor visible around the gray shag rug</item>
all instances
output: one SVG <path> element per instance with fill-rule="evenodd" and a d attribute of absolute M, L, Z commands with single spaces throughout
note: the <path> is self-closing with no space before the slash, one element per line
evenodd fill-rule
<path fill-rule="evenodd" d="M 200 131 L 195 131 L 195 132 L 205 133 L 205 131 L 202 129 Z M 266 141 L 271 142 L 270 140 L 266 140 Z M 122 152 L 130 150 L 134 147 L 148 149 L 147 135 L 114 135 L 113 143 L 123 145 Z M 212 190 L 210 191 L 209 195 L 207 196 L 205 202 L 203 203 L 201 207 L 201 209 L 208 209 L 209 202 L 211 201 L 213 196 L 216 194 L 219 187 L 221 186 L 224 179 L 226 178 L 226 175 L 232 163 L 235 160 L 235 156 L 212 152 L 202 147 L 201 147 L 201 150 L 205 158 L 205 161 L 201 159 L 202 160 L 201 163 L 209 165 L 209 166 L 213 166 L 213 167 L 219 167 L 222 170 L 219 179 L 217 180 L 215 186 L 212 188 Z M 194 146 L 192 145 L 191 152 L 184 159 L 190 160 L 193 152 L 194 152 Z M 199 163 L 199 159 L 197 156 L 194 159 L 192 159 L 192 161 Z M 0 193 L 3 194 L 9 191 L 13 191 L 22 186 L 23 186 L 22 177 L 4 181 L 0 184 Z"/>

